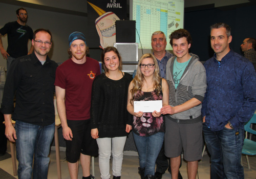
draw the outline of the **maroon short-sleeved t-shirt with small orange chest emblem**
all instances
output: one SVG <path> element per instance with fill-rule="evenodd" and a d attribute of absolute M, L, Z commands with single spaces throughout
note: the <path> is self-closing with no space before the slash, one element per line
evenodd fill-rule
<path fill-rule="evenodd" d="M 70 58 L 58 66 L 54 85 L 66 90 L 68 120 L 90 119 L 92 84 L 99 74 L 99 62 L 90 57 L 86 57 L 83 64 L 77 64 Z"/>

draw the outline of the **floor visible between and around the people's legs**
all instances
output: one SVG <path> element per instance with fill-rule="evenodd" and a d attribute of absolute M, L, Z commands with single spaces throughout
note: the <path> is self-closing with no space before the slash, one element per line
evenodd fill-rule
<path fill-rule="evenodd" d="M 9 148 L 8 148 L 8 152 L 10 152 Z M 67 162 L 65 161 L 65 156 L 66 156 L 65 152 L 60 151 L 61 176 L 62 176 L 61 178 L 62 179 L 70 178 L 68 165 L 67 165 Z M 49 167 L 48 178 L 58 178 L 57 177 L 55 151 L 53 151 L 53 150 L 51 151 L 50 158 L 51 158 L 51 163 L 50 163 L 50 167 Z M 245 158 L 245 156 L 243 156 L 245 178 L 246 179 L 256 179 L 256 157 L 249 156 L 249 161 L 250 161 L 250 166 L 251 166 L 250 170 L 247 167 L 246 158 Z M 138 174 L 138 165 L 139 165 L 138 156 L 125 155 L 124 160 L 123 160 L 123 166 L 122 166 L 122 179 L 129 179 L 129 178 L 138 178 L 139 179 L 140 176 Z M 0 161 L 0 168 L 7 171 L 11 175 L 13 175 L 11 158 L 4 160 L 4 161 Z M 182 162 L 182 167 L 181 167 L 180 171 L 181 171 L 183 178 L 186 179 L 187 178 L 186 162 Z M 209 156 L 207 154 L 205 154 L 202 162 L 199 162 L 198 178 L 200 178 L 200 179 L 210 178 L 209 172 L 210 172 Z M 98 158 L 95 158 L 95 177 L 97 179 L 100 179 Z M 0 176 L 0 178 L 1 178 L 1 176 Z M 18 178 L 18 177 L 16 177 L 16 178 Z M 78 178 L 82 178 L 82 170 L 81 170 L 80 165 L 79 165 Z M 170 174 L 168 172 L 166 172 L 162 178 L 167 179 L 167 178 L 171 178 L 171 177 L 170 177 Z M 2 179 L 4 179 L 4 178 L 2 178 Z"/>

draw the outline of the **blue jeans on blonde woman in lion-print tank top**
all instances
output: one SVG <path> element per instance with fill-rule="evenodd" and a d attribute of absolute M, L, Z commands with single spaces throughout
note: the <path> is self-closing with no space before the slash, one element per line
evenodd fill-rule
<path fill-rule="evenodd" d="M 139 153 L 140 168 L 145 168 L 145 176 L 155 175 L 156 160 L 163 145 L 164 132 L 148 137 L 138 136 L 133 132 L 133 138 Z"/>

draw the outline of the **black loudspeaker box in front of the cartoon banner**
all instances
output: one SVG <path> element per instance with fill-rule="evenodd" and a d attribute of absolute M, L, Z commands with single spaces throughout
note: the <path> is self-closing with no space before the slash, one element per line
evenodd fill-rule
<path fill-rule="evenodd" d="M 116 42 L 135 43 L 136 42 L 136 21 L 116 20 Z"/>

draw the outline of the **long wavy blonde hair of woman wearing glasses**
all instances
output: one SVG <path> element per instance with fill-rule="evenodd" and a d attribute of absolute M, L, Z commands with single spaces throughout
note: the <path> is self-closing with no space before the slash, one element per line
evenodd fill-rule
<path fill-rule="evenodd" d="M 133 101 L 135 99 L 135 94 L 138 91 L 141 92 L 142 87 L 143 87 L 144 76 L 141 73 L 140 64 L 142 63 L 142 60 L 145 59 L 145 58 L 152 58 L 153 61 L 154 61 L 155 71 L 154 71 L 154 74 L 153 74 L 153 89 L 156 90 L 158 96 L 159 96 L 161 88 L 162 88 L 162 86 L 160 85 L 161 77 L 159 76 L 159 66 L 158 66 L 156 57 L 154 55 L 152 55 L 152 54 L 144 54 L 144 55 L 142 55 L 140 57 L 140 60 L 139 60 L 139 63 L 138 63 L 136 75 L 135 75 L 135 77 L 134 77 L 134 79 L 132 81 L 133 82 L 133 87 L 132 87 L 132 89 L 130 91 L 132 93 L 132 98 L 130 100 L 131 104 L 133 104 Z"/>

